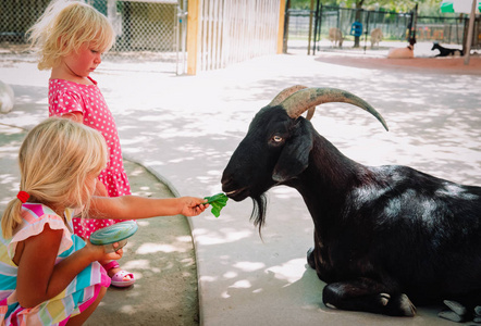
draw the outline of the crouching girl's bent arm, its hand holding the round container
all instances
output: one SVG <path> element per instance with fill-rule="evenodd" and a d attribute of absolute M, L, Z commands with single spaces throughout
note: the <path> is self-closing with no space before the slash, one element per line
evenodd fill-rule
<path fill-rule="evenodd" d="M 46 224 L 41 234 L 18 242 L 13 261 L 18 266 L 16 296 L 22 306 L 37 306 L 55 297 L 94 261 L 122 258 L 122 249 L 106 254 L 103 246 L 87 241 L 87 246 L 55 264 L 62 233 Z"/>

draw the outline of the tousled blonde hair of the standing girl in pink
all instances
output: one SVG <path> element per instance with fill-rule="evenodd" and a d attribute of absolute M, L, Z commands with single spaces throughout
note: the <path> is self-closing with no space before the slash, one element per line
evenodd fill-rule
<path fill-rule="evenodd" d="M 115 41 L 108 18 L 89 4 L 53 0 L 28 32 L 30 47 L 39 55 L 38 68 L 57 66 L 62 57 L 78 52 L 85 42 L 107 52 Z"/>

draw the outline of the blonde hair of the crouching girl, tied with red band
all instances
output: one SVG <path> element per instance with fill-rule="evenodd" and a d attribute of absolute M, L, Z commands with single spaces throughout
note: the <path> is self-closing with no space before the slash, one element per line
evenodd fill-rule
<path fill-rule="evenodd" d="M 107 164 L 103 136 L 69 118 L 50 117 L 33 128 L 18 153 L 20 190 L 29 202 L 62 204 L 65 208 L 88 206 L 92 189 L 86 185 L 90 174 Z M 22 202 L 13 199 L 3 213 L 3 238 L 12 237 L 22 223 Z"/>

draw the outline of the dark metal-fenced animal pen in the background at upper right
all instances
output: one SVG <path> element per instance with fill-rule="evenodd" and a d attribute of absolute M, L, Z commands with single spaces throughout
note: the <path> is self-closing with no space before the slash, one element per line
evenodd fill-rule
<path fill-rule="evenodd" d="M 370 35 L 375 28 L 381 29 L 385 41 L 407 41 L 409 35 L 416 40 L 464 45 L 466 41 L 468 17 L 454 16 L 418 16 L 416 10 L 397 13 L 381 10 L 356 10 L 349 8 L 319 4 L 316 10 L 286 11 L 286 42 L 288 51 L 292 45 L 307 49 L 308 54 L 319 50 L 332 50 L 334 45 L 329 40 L 329 30 L 338 28 L 344 38 L 344 50 L 371 47 Z M 478 18 L 472 45 L 480 48 L 478 35 L 481 23 Z M 357 38 L 357 40 L 356 40 Z M 378 47 L 379 48 L 379 47 Z M 375 48 L 374 48 L 375 49 Z"/>

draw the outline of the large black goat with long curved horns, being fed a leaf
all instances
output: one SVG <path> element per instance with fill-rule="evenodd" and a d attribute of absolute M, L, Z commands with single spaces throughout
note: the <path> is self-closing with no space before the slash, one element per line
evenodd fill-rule
<path fill-rule="evenodd" d="M 303 88 L 284 90 L 257 113 L 223 172 L 223 191 L 235 201 L 252 198 L 259 231 L 268 189 L 300 192 L 314 223 L 308 263 L 328 284 L 329 308 L 414 316 L 411 300 L 446 300 L 444 317 L 481 313 L 481 187 L 346 158 L 300 114 L 347 102 L 387 129 L 384 120 L 349 92 Z"/>

